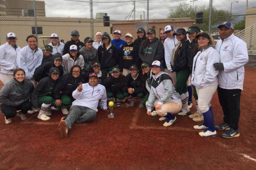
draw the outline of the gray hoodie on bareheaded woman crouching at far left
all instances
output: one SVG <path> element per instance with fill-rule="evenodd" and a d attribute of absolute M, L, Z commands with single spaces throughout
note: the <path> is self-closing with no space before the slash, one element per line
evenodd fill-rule
<path fill-rule="evenodd" d="M 28 101 L 34 91 L 33 84 L 24 79 L 22 84 L 13 78 L 0 90 L 0 102 L 7 106 L 20 106 Z"/>

